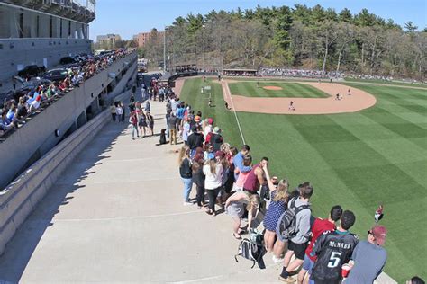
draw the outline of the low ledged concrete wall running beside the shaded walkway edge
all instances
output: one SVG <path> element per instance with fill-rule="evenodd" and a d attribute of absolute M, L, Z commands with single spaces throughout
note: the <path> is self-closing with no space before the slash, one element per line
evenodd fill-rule
<path fill-rule="evenodd" d="M 101 112 L 0 191 L 0 254 L 68 164 L 110 120 L 108 109 Z"/>

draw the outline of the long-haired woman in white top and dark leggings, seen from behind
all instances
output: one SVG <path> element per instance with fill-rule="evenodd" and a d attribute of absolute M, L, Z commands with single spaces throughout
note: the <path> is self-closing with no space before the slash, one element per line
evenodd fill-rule
<path fill-rule="evenodd" d="M 204 163 L 204 189 L 209 197 L 209 209 L 206 211 L 207 214 L 216 216 L 215 212 L 215 200 L 218 196 L 218 192 L 221 190 L 223 185 L 223 164 L 216 161 L 215 157 L 209 159 Z"/>

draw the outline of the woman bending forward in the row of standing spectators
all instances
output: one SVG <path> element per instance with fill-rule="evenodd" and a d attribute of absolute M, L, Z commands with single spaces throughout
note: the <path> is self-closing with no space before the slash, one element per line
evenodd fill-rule
<path fill-rule="evenodd" d="M 232 236 L 241 240 L 241 234 L 244 230 L 241 229 L 241 217 L 246 209 L 248 210 L 248 229 L 252 226 L 252 220 L 257 216 L 259 209 L 259 195 L 250 194 L 248 191 L 237 191 L 225 201 L 225 211 L 232 217 Z"/>

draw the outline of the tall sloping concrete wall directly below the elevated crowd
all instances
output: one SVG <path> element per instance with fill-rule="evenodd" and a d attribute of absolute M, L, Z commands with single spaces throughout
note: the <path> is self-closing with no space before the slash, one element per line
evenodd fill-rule
<path fill-rule="evenodd" d="M 136 53 L 133 53 L 118 60 L 108 69 L 88 79 L 79 88 L 65 94 L 6 138 L 0 144 L 0 156 L 2 157 L 0 159 L 2 169 L 0 188 L 4 188 L 11 182 L 32 156 L 38 158 L 58 144 L 66 131 L 76 123 L 77 118 L 86 111 L 86 107 L 98 100 L 98 94 L 115 80 L 109 74 L 123 69 L 126 67 L 125 62 L 130 62 L 128 72 L 119 82 L 119 84 L 122 82 L 126 84 L 127 80 L 132 77 L 132 69 L 136 68 L 136 57 Z M 123 92 L 123 90 L 120 91 L 120 93 Z M 57 129 L 60 133 L 59 137 L 55 136 Z"/>

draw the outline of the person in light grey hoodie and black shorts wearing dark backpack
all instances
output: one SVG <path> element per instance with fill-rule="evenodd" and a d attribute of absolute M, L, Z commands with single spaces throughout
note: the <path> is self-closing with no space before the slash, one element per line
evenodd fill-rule
<path fill-rule="evenodd" d="M 295 271 L 304 262 L 305 249 L 308 246 L 310 230 L 310 209 L 309 200 L 313 195 L 313 186 L 310 182 L 305 182 L 299 189 L 299 197 L 289 200 L 286 212 L 295 212 L 290 226 L 286 227 L 288 235 L 287 252 L 283 263 L 282 273 L 279 280 L 286 283 L 294 283 L 296 280 L 289 276 L 289 272 Z M 286 214 L 285 212 L 285 214 Z M 289 213 L 288 213 L 289 214 Z M 280 221 L 279 221 L 280 222 Z M 278 224 L 280 225 L 280 224 Z M 280 232 L 283 235 L 283 232 Z M 295 260 L 291 262 L 295 254 Z"/>

